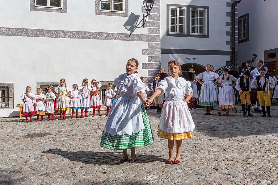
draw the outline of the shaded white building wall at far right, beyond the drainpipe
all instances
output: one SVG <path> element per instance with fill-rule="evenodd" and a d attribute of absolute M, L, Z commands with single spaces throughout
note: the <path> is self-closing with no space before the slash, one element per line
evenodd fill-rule
<path fill-rule="evenodd" d="M 265 50 L 278 48 L 277 11 L 276 0 L 245 0 L 238 4 L 238 17 L 249 13 L 249 41 L 239 44 L 239 65 L 253 58 L 254 53 L 257 60 L 264 60 Z"/>

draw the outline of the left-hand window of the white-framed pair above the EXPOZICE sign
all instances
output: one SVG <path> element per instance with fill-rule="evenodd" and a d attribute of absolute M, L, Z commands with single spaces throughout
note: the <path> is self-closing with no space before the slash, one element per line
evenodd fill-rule
<path fill-rule="evenodd" d="M 170 33 L 186 34 L 186 8 L 170 7 Z"/>

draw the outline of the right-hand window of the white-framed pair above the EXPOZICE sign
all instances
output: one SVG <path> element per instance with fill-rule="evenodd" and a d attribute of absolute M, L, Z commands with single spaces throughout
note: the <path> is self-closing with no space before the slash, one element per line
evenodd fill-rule
<path fill-rule="evenodd" d="M 207 34 L 207 10 L 199 8 L 190 8 L 190 34 Z"/>

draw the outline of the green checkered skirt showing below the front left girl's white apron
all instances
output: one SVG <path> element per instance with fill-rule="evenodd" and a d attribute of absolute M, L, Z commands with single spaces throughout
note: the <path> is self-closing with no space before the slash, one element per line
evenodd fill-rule
<path fill-rule="evenodd" d="M 101 135 L 100 146 L 109 150 L 125 150 L 131 149 L 133 147 L 144 147 L 153 143 L 154 136 L 150 127 L 149 118 L 147 116 L 144 105 L 141 105 L 141 108 L 143 110 L 142 117 L 145 129 L 136 134 L 133 133 L 132 135 L 116 134 L 112 136 L 111 134 L 103 132 Z"/>

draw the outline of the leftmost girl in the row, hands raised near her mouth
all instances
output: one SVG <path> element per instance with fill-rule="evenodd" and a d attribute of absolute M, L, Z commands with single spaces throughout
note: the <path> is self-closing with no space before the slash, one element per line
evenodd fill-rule
<path fill-rule="evenodd" d="M 36 96 L 32 93 L 32 89 L 30 86 L 26 87 L 26 92 L 20 96 L 22 99 L 23 107 L 22 107 L 22 115 L 25 115 L 26 122 L 28 122 L 28 115 L 30 121 L 32 121 L 32 114 L 35 114 L 35 106 L 33 104 L 33 100 L 36 100 Z"/>

